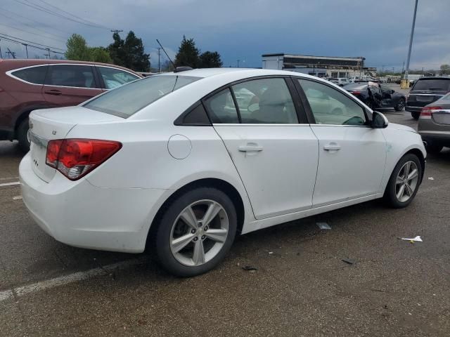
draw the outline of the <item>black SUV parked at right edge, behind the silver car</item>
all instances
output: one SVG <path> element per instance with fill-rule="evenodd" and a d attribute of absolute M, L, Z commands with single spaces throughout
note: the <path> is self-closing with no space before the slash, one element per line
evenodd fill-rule
<path fill-rule="evenodd" d="M 409 92 L 406 111 L 411 112 L 414 119 L 418 119 L 425 105 L 439 100 L 449 91 L 450 77 L 420 77 Z"/>

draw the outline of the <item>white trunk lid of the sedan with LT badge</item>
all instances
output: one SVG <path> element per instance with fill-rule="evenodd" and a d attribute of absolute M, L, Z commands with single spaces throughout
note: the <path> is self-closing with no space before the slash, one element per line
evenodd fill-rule
<path fill-rule="evenodd" d="M 56 169 L 45 164 L 49 140 L 64 139 L 77 124 L 97 124 L 123 120 L 112 114 L 105 114 L 79 106 L 34 110 L 30 114 L 29 133 L 34 173 L 47 183 L 55 175 Z"/>

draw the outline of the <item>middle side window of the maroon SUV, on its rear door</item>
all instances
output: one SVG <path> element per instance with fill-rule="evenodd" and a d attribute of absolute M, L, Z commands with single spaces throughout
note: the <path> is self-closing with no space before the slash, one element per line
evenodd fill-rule
<path fill-rule="evenodd" d="M 77 88 L 96 87 L 94 73 L 90 65 L 50 65 L 45 84 Z"/>

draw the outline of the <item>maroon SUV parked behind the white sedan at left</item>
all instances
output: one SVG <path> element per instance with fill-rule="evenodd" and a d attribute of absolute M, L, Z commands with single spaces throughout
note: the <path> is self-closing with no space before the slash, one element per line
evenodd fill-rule
<path fill-rule="evenodd" d="M 32 110 L 78 105 L 141 76 L 127 68 L 68 60 L 0 59 L 0 140 L 30 148 Z"/>

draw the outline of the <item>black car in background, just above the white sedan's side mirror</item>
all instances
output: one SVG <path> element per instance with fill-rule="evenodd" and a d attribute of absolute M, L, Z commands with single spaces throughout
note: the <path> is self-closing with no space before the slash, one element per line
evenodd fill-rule
<path fill-rule="evenodd" d="M 401 111 L 405 107 L 406 96 L 383 84 L 370 81 L 348 84 L 344 88 L 372 109 L 393 107 L 395 111 Z"/>

